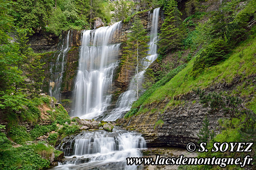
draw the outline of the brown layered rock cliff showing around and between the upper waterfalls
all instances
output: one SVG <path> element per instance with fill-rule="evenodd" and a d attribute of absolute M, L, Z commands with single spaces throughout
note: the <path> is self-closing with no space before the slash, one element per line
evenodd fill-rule
<path fill-rule="evenodd" d="M 153 12 L 153 11 L 152 11 Z M 162 14 L 162 10 L 160 11 Z M 151 28 L 151 18 L 149 16 L 149 11 L 140 12 L 136 15 L 139 19 L 141 19 L 144 28 L 147 29 L 148 33 L 150 33 Z M 159 30 L 160 26 L 163 22 L 162 15 L 159 15 Z M 130 32 L 130 28 L 132 27 L 133 18 L 131 18 L 126 23 L 122 23 L 121 32 L 116 32 L 111 39 L 111 44 L 121 43 L 120 51 L 119 51 L 119 59 L 122 56 L 122 48 L 125 47 L 125 41 L 127 40 L 127 34 Z M 71 32 L 70 32 L 71 34 Z M 62 37 L 66 37 L 67 32 L 65 32 Z M 58 56 L 58 51 L 62 45 L 62 38 L 54 37 L 53 35 L 34 35 L 31 37 L 31 47 L 35 52 L 49 52 L 42 55 L 42 62 L 46 64 L 43 66 L 45 70 L 45 80 L 42 85 L 42 92 L 49 94 L 49 83 L 50 83 L 50 63 L 54 63 L 56 61 L 56 57 Z M 78 68 L 78 60 L 79 60 L 79 50 L 81 45 L 81 31 L 72 30 L 72 37 L 69 39 L 70 49 L 67 52 L 67 56 L 64 59 L 65 67 L 62 78 L 61 85 L 61 99 L 71 99 L 72 100 L 72 90 L 74 87 L 74 81 L 76 76 L 76 70 Z M 112 97 L 112 109 L 115 106 L 115 102 L 118 99 L 118 96 L 127 89 L 129 81 L 131 77 L 134 75 L 133 71 L 129 70 L 126 66 L 119 66 L 114 75 L 114 82 L 112 84 L 112 90 L 109 91 Z M 67 108 L 69 111 L 69 108 Z"/>

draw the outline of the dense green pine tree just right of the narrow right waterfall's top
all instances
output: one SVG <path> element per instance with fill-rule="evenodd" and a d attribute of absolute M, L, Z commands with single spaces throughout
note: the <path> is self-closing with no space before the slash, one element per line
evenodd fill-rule
<path fill-rule="evenodd" d="M 161 27 L 159 54 L 165 54 L 171 49 L 181 45 L 185 34 L 184 24 L 181 19 L 182 13 L 178 10 L 175 0 L 168 2 L 164 14 L 166 14 L 167 17 Z"/>

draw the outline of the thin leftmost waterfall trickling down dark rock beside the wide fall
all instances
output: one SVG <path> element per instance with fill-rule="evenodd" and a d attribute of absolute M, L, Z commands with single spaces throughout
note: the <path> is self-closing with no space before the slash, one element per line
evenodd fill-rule
<path fill-rule="evenodd" d="M 69 30 L 69 32 L 67 33 L 67 36 L 62 39 L 61 50 L 59 51 L 55 64 L 53 63 L 50 64 L 51 77 L 50 77 L 49 93 L 50 93 L 50 96 L 55 97 L 57 100 L 61 99 L 61 83 L 62 83 L 62 77 L 63 77 L 64 66 L 65 66 L 64 59 L 66 57 L 67 52 L 69 51 L 70 36 L 72 37 L 72 30 L 71 30 L 71 35 Z"/>

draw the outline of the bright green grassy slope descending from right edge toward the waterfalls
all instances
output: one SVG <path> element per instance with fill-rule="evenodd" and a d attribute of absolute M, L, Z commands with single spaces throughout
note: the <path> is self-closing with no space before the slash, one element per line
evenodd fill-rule
<path fill-rule="evenodd" d="M 240 52 L 243 52 L 243 56 L 239 56 Z M 213 84 L 223 82 L 230 83 L 236 76 L 245 79 L 248 75 L 256 72 L 255 56 L 256 41 L 254 37 L 251 37 L 234 48 L 231 56 L 227 60 L 205 69 L 203 73 L 195 79 L 191 76 L 195 60 L 195 57 L 193 57 L 183 70 L 178 72 L 170 81 L 163 84 L 163 86 L 156 86 L 159 82 L 155 83 L 139 100 L 134 102 L 132 109 L 150 105 L 153 102 L 159 103 L 166 98 L 169 98 L 169 105 L 172 105 L 171 102 L 175 96 L 185 94 L 193 89 L 203 89 L 213 86 Z M 186 79 L 185 81 L 184 78 Z M 166 77 L 163 79 L 166 79 Z M 243 90 L 244 95 L 248 95 L 252 92 L 254 92 L 253 88 Z M 255 107 L 255 105 L 253 106 Z"/>

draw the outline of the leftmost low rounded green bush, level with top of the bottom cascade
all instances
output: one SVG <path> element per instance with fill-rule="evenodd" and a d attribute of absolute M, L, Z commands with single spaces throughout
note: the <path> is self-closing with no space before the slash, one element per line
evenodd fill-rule
<path fill-rule="evenodd" d="M 29 133 L 27 133 L 27 129 L 23 126 L 11 127 L 8 135 L 14 142 L 18 144 L 23 144 L 24 142 L 31 140 Z"/>

